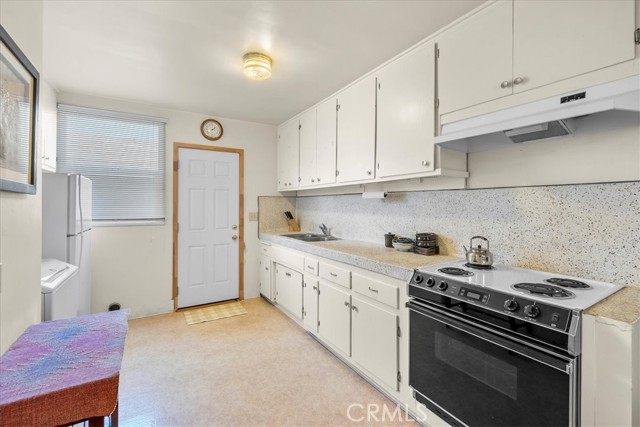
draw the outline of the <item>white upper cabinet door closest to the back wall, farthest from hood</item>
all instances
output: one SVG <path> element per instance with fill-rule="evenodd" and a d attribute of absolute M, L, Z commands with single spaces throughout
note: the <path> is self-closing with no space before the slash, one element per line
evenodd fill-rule
<path fill-rule="evenodd" d="M 278 129 L 278 190 L 298 188 L 300 130 L 298 120 L 291 120 Z"/>

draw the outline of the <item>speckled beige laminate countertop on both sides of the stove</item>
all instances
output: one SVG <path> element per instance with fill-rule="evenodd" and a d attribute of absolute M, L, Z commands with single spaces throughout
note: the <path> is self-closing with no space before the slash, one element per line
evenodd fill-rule
<path fill-rule="evenodd" d="M 296 249 L 404 281 L 409 281 L 416 268 L 460 259 L 449 255 L 425 256 L 412 252 L 400 252 L 382 244 L 355 240 L 304 242 L 285 237 L 286 234 L 286 232 L 263 232 L 260 233 L 259 238 L 263 242 Z M 585 314 L 630 324 L 637 322 L 640 320 L 640 286 L 624 287 L 585 310 Z"/>

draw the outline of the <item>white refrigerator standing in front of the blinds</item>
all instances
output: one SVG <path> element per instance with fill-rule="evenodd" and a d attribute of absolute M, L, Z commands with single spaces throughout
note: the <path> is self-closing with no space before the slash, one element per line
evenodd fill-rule
<path fill-rule="evenodd" d="M 91 180 L 42 174 L 42 258 L 78 267 L 78 315 L 91 313 Z"/>

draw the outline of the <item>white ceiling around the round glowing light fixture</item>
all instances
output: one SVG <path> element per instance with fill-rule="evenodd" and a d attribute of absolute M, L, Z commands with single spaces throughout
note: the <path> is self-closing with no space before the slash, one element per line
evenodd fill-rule
<path fill-rule="evenodd" d="M 280 124 L 480 0 L 44 2 L 43 74 L 60 92 Z M 242 55 L 273 58 L 251 81 Z"/>

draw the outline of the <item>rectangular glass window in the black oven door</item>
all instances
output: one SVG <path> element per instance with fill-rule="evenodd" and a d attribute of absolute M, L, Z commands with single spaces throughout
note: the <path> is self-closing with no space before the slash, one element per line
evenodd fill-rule
<path fill-rule="evenodd" d="M 470 345 L 435 333 L 435 356 L 513 400 L 518 398 L 518 368 Z"/>

